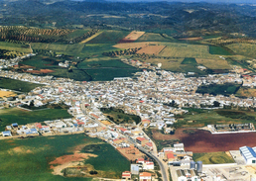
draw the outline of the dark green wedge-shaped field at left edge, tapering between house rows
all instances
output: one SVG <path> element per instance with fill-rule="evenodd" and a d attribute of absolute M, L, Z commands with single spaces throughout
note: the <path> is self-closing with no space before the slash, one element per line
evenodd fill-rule
<path fill-rule="evenodd" d="M 44 86 L 44 85 L 0 77 L 0 88 L 3 88 L 3 89 L 10 89 L 10 90 L 16 90 L 21 92 L 30 92 L 31 90 L 40 86 Z"/>

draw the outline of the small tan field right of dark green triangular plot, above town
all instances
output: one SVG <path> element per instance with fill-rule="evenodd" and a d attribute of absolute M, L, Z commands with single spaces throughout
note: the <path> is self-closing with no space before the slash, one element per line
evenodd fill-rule
<path fill-rule="evenodd" d="M 230 69 L 230 65 L 224 59 L 196 58 L 196 62 L 198 64 L 202 64 L 203 66 L 205 66 L 209 69 Z"/>

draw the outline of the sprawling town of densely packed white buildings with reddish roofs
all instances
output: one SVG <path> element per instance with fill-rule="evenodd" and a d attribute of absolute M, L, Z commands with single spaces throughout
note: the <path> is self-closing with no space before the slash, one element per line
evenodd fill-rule
<path fill-rule="evenodd" d="M 141 66 L 137 60 L 124 60 Z M 4 61 L 5 62 L 5 61 Z M 18 62 L 18 61 L 17 61 Z M 16 63 L 11 61 L 10 66 Z M 6 64 L 5 64 L 6 65 Z M 175 143 L 173 147 L 157 150 L 154 141 L 147 136 L 143 129 L 153 127 L 171 134 L 172 126 L 177 122 L 175 115 L 182 115 L 188 111 L 184 107 L 208 109 L 218 107 L 238 106 L 255 108 L 255 98 L 242 99 L 233 95 L 210 95 L 196 93 L 201 85 L 236 83 L 242 86 L 253 86 L 256 83 L 254 76 L 242 76 L 244 71 L 234 67 L 233 72 L 227 74 L 209 74 L 204 77 L 187 77 L 185 73 L 173 73 L 161 70 L 160 66 L 147 65 L 148 68 L 137 72 L 134 77 L 117 77 L 112 81 L 79 82 L 67 78 L 53 76 L 37 76 L 29 73 L 0 70 L 0 76 L 33 83 L 44 84 L 29 94 L 18 96 L 15 99 L 0 101 L 2 108 L 19 107 L 34 103 L 36 107 L 45 104 L 63 103 L 69 106 L 68 113 L 72 119 L 45 121 L 28 125 L 13 123 L 6 127 L 2 138 L 27 136 L 55 136 L 86 134 L 109 142 L 127 159 L 134 161 L 131 169 L 122 174 L 122 179 L 131 179 L 132 175 L 139 175 L 140 180 L 154 180 L 156 164 L 159 165 L 164 181 L 170 180 L 248 180 L 255 174 L 253 169 L 247 169 L 256 162 L 256 148 L 240 147 L 233 151 L 235 163 L 221 165 L 202 165 L 202 162 L 193 162 L 192 151 L 185 151 L 183 142 Z M 240 72 L 240 73 L 239 73 Z M 176 106 L 170 106 L 170 104 Z M 100 108 L 118 108 L 127 114 L 137 115 L 141 123 L 117 125 L 109 120 L 100 111 Z M 233 130 L 235 126 L 226 127 Z M 238 126 L 237 126 L 238 127 Z M 239 130 L 249 129 L 251 125 L 240 126 Z M 242 128 L 243 127 L 243 128 Z M 235 127 L 236 128 L 236 127 Z M 224 132 L 225 128 L 208 126 L 212 132 Z M 224 131 L 221 131 L 224 130 Z M 147 155 L 152 160 L 144 160 Z M 143 171 L 140 171 L 143 170 Z M 248 171 L 249 170 L 249 171 Z"/>

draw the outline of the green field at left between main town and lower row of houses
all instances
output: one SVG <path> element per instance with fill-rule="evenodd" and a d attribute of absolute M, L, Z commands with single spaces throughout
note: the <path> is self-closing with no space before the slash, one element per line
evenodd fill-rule
<path fill-rule="evenodd" d="M 4 131 L 5 127 L 12 123 L 26 125 L 65 118 L 72 118 L 65 109 L 46 109 L 38 111 L 24 111 L 19 108 L 2 109 L 0 110 L 0 131 Z"/>

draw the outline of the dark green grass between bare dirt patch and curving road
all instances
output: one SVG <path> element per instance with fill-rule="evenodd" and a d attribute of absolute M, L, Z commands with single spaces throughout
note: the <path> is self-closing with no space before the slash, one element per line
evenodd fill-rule
<path fill-rule="evenodd" d="M 91 164 L 96 170 L 102 170 L 106 172 L 108 178 L 120 178 L 122 172 L 130 170 L 130 162 L 123 157 L 115 148 L 108 144 L 99 144 L 100 148 L 94 148 L 93 154 L 97 154 L 97 157 L 90 157 L 85 160 L 85 163 Z M 82 152 L 91 153 L 91 150 Z"/>

